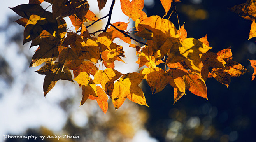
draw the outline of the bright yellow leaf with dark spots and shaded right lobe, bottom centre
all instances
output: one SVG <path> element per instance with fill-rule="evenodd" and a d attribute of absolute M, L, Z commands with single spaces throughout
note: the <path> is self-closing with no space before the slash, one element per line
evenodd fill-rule
<path fill-rule="evenodd" d="M 125 98 L 140 105 L 146 105 L 146 98 L 142 89 L 139 87 L 144 75 L 133 72 L 123 75 L 114 84 L 111 95 L 114 107 L 118 109 L 124 103 Z"/>

